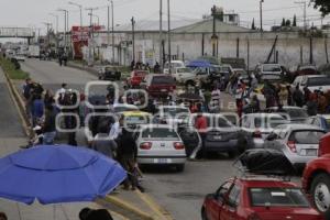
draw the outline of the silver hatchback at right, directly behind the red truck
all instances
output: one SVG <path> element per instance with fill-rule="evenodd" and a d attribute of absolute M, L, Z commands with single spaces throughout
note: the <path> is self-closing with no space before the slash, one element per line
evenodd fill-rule
<path fill-rule="evenodd" d="M 319 141 L 326 132 L 308 124 L 278 125 L 264 143 L 265 148 L 280 151 L 296 167 L 318 156 Z"/>

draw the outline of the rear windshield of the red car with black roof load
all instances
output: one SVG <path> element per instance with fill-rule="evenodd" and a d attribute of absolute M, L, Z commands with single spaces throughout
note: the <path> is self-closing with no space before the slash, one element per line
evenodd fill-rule
<path fill-rule="evenodd" d="M 253 207 L 309 207 L 299 188 L 250 188 Z"/>

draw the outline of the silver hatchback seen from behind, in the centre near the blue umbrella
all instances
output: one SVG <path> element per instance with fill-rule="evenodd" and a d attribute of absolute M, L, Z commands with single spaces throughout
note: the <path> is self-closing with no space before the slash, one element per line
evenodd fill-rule
<path fill-rule="evenodd" d="M 185 169 L 186 148 L 173 127 L 143 125 L 134 138 L 138 145 L 138 164 L 175 166 L 178 172 Z"/>

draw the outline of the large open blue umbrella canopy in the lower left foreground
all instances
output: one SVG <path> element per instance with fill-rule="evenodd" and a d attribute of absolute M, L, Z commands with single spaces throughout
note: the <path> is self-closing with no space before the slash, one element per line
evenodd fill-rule
<path fill-rule="evenodd" d="M 94 201 L 127 178 L 113 160 L 68 145 L 40 145 L 0 160 L 0 197 L 31 205 Z"/>

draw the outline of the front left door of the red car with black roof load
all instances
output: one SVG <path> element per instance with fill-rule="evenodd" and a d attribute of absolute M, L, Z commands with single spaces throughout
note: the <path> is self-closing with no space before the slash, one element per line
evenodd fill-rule
<path fill-rule="evenodd" d="M 208 220 L 220 220 L 222 212 L 224 198 L 228 196 L 228 191 L 231 188 L 232 183 L 226 182 L 215 194 L 215 198 L 210 200 L 206 207 Z"/>

